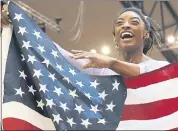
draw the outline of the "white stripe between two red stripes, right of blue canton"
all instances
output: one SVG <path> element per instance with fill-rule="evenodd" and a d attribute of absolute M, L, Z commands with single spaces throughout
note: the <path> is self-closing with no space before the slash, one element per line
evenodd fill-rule
<path fill-rule="evenodd" d="M 144 104 L 178 97 L 177 85 L 178 78 L 174 78 L 138 89 L 128 89 L 125 104 Z"/>

